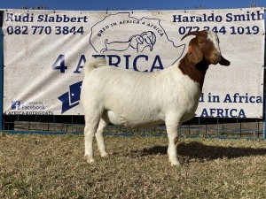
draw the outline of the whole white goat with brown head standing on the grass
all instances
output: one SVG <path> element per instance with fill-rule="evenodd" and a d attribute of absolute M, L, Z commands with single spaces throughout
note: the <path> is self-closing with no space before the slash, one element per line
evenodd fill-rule
<path fill-rule="evenodd" d="M 223 58 L 219 40 L 207 30 L 195 35 L 189 51 L 176 64 L 156 73 L 139 73 L 106 65 L 97 58 L 84 67 L 81 102 L 85 115 L 85 159 L 94 162 L 92 141 L 98 142 L 101 157 L 107 157 L 103 131 L 108 123 L 128 127 L 165 124 L 168 159 L 180 165 L 177 140 L 180 125 L 194 117 L 209 65 L 230 65 Z"/>

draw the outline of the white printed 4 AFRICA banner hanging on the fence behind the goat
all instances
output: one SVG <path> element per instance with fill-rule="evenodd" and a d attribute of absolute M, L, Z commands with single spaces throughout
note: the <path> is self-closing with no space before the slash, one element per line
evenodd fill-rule
<path fill-rule="evenodd" d="M 196 116 L 262 118 L 263 8 L 6 10 L 4 114 L 82 115 L 86 60 L 102 56 L 113 67 L 155 72 L 184 57 L 192 36 L 181 38 L 202 29 L 218 34 L 223 57 L 231 65 L 209 66 Z"/>

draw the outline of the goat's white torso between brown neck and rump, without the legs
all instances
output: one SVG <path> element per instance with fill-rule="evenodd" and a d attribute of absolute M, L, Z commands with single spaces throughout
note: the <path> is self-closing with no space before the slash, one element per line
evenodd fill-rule
<path fill-rule="evenodd" d="M 194 116 L 200 97 L 199 83 L 177 64 L 156 73 L 98 67 L 85 78 L 82 90 L 86 116 L 90 111 L 95 116 L 91 107 L 96 107 L 114 125 L 129 127 L 162 124 L 169 112 L 184 122 Z"/>

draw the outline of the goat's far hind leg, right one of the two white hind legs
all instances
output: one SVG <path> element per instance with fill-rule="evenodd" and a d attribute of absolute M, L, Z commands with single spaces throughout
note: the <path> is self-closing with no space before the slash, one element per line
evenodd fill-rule
<path fill-rule="evenodd" d="M 95 134 L 98 143 L 98 150 L 100 151 L 101 157 L 108 157 L 108 153 L 106 151 L 106 143 L 103 135 L 106 126 L 107 122 L 105 121 L 105 119 L 100 119 L 98 129 Z"/>

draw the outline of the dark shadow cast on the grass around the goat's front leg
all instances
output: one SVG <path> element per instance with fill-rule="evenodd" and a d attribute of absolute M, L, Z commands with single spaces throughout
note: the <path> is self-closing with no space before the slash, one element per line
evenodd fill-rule
<path fill-rule="evenodd" d="M 167 154 L 168 146 L 154 146 L 145 148 L 141 151 L 141 156 Z M 134 152 L 134 151 L 133 151 Z M 266 155 L 266 149 L 245 148 L 245 147 L 221 147 L 208 146 L 201 142 L 179 143 L 177 146 L 179 157 L 189 157 L 195 159 L 217 159 L 217 158 L 236 158 Z"/>

